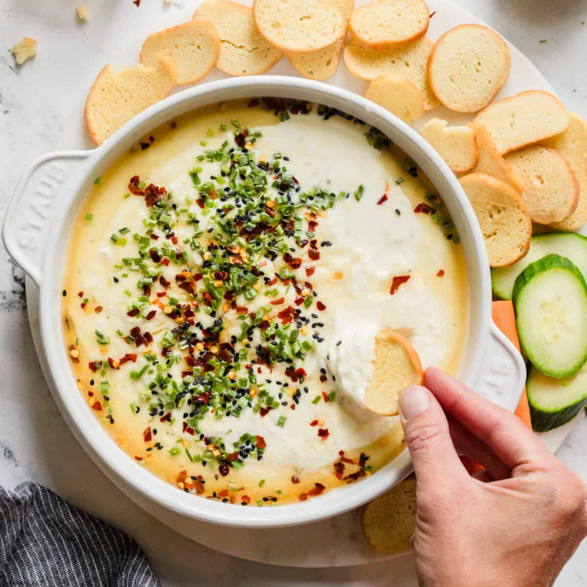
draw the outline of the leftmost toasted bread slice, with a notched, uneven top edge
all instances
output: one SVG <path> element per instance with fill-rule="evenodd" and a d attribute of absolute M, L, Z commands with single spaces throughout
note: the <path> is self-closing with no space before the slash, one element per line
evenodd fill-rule
<path fill-rule="evenodd" d="M 177 72 L 171 59 L 158 55 L 152 68 L 142 63 L 119 72 L 106 65 L 87 96 L 87 131 L 102 144 L 135 114 L 166 97 L 176 85 Z"/>

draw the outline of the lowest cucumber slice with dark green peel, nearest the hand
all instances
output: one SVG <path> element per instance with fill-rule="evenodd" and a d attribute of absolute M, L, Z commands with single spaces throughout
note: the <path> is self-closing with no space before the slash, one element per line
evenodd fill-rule
<path fill-rule="evenodd" d="M 572 420 L 587 404 L 587 363 L 570 377 L 546 377 L 530 367 L 526 382 L 532 429 L 546 432 Z"/>

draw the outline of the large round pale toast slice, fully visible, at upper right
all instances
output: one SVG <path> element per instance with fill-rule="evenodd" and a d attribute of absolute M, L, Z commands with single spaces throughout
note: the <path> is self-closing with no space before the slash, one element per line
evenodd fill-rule
<path fill-rule="evenodd" d="M 456 112 L 483 109 L 509 75 L 510 49 L 487 26 L 456 26 L 438 39 L 428 59 L 432 91 Z"/>

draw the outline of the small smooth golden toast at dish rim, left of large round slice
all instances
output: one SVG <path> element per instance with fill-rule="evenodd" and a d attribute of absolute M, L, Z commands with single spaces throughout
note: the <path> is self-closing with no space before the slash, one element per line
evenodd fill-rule
<path fill-rule="evenodd" d="M 376 77 L 367 87 L 364 96 L 383 106 L 403 122 L 420 120 L 426 112 L 420 90 L 402 77 Z"/>

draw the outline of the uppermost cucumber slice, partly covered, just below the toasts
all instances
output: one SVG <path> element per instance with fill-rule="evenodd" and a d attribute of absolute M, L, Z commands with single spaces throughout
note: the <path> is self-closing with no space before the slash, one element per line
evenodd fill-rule
<path fill-rule="evenodd" d="M 555 253 L 578 266 L 587 275 L 587 238 L 576 232 L 551 232 L 532 237 L 528 254 L 509 267 L 491 269 L 491 288 L 500 299 L 512 299 L 514 282 L 519 274 L 534 261 Z"/>

